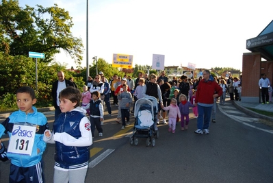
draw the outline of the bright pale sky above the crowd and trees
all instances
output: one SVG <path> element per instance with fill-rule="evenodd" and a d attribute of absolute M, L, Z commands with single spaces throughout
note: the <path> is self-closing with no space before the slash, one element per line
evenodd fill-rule
<path fill-rule="evenodd" d="M 242 70 L 246 40 L 272 21 L 270 0 L 92 0 L 89 2 L 89 63 L 92 57 L 112 63 L 113 53 L 133 55 L 135 64 L 151 65 L 153 54 L 165 66 L 233 67 Z M 86 45 L 86 0 L 19 0 L 34 7 L 53 6 L 70 12 L 73 36 Z M 34 51 L 34 50 L 33 50 Z M 66 54 L 56 60 L 75 66 Z M 86 66 L 83 53 L 82 66 Z"/>

